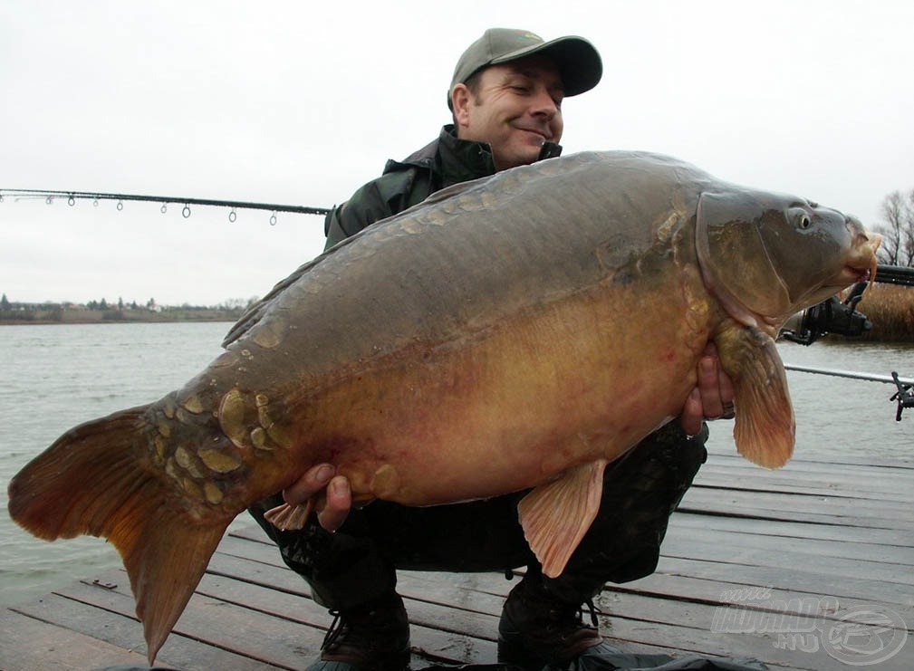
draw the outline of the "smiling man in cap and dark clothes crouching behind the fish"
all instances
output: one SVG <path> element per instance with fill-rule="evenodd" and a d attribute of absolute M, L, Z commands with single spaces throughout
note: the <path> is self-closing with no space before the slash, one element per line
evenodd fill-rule
<path fill-rule="evenodd" d="M 520 30 L 491 29 L 463 53 L 448 104 L 453 125 L 403 162 L 356 191 L 326 221 L 327 246 L 439 189 L 496 171 L 557 156 L 564 98 L 600 80 L 596 49 L 580 37 L 549 42 Z M 376 501 L 350 511 L 345 477 L 315 466 L 284 493 L 300 504 L 321 493 L 323 509 L 300 531 L 282 531 L 263 517 L 274 497 L 251 512 L 311 584 L 314 600 L 337 620 L 312 669 L 397 669 L 409 661 L 409 623 L 396 592 L 396 569 L 510 570 L 526 575 L 509 594 L 499 623 L 499 660 L 540 668 L 606 649 L 580 619 L 582 603 L 608 581 L 654 571 L 667 519 L 704 462 L 703 419 L 725 413 L 732 400 L 717 358 L 708 350 L 698 386 L 679 423 L 657 431 L 611 464 L 600 513 L 557 579 L 540 572 L 517 522 L 523 492 L 454 506 L 407 508 Z M 689 438 L 689 435 L 696 435 Z M 348 516 L 348 517 L 347 517 Z M 326 529 L 338 529 L 330 533 Z"/>

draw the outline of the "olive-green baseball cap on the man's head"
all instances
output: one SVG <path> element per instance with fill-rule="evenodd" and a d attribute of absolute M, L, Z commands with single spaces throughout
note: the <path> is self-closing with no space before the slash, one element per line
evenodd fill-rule
<path fill-rule="evenodd" d="M 583 37 L 558 37 L 547 42 L 527 30 L 489 28 L 457 61 L 448 90 L 448 106 L 454 86 L 470 79 L 477 70 L 533 54 L 542 54 L 556 63 L 566 96 L 590 91 L 603 74 L 600 53 Z"/>

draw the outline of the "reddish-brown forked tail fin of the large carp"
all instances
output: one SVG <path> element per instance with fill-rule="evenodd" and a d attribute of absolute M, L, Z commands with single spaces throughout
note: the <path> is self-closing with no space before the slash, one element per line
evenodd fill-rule
<path fill-rule="evenodd" d="M 82 534 L 118 549 L 143 621 L 149 664 L 203 577 L 225 524 L 195 525 L 137 459 L 148 406 L 62 435 L 9 484 L 9 513 L 38 538 Z"/>

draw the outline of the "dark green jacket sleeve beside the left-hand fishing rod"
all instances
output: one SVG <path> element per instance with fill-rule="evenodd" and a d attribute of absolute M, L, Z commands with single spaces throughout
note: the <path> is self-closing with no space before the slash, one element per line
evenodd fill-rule
<path fill-rule="evenodd" d="M 383 218 L 399 214 L 429 195 L 429 187 L 419 182 L 417 170 L 386 173 L 359 188 L 345 203 L 333 208 L 324 219 L 324 233 L 329 250 L 340 240 L 356 235 Z"/>

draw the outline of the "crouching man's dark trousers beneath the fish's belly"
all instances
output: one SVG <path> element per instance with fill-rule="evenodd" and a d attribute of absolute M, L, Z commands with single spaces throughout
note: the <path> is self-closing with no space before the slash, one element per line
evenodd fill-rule
<path fill-rule="evenodd" d="M 580 604 L 606 582 L 654 572 L 671 513 L 707 458 L 707 428 L 688 438 L 678 422 L 648 436 L 603 477 L 600 511 L 564 572 L 549 579 L 526 544 L 517 502 L 526 492 L 485 501 L 413 508 L 375 501 L 354 509 L 331 534 L 313 515 L 305 527 L 281 531 L 263 513 L 276 495 L 250 508 L 282 559 L 312 587 L 314 600 L 348 611 L 395 591 L 397 569 L 505 571 L 526 566 L 531 580 L 561 602 Z"/>

